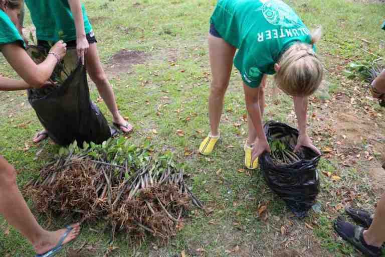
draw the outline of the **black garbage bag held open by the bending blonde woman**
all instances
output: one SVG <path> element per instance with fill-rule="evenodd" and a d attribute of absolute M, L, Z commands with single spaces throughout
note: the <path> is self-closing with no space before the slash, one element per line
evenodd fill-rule
<path fill-rule="evenodd" d="M 267 122 L 264 130 L 268 142 L 278 139 L 294 150 L 298 130 L 276 121 Z M 259 165 L 270 189 L 285 201 L 296 217 L 305 217 L 319 193 L 317 165 L 321 156 L 307 147 L 302 147 L 297 155 L 299 161 L 280 165 L 265 152 L 259 157 Z"/>

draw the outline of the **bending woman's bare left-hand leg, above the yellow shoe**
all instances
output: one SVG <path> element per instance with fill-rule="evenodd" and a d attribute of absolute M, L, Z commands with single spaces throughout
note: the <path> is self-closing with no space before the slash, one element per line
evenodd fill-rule
<path fill-rule="evenodd" d="M 223 110 L 223 100 L 233 68 L 233 58 L 237 49 L 222 38 L 209 35 L 209 57 L 213 80 L 209 96 L 210 134 L 218 136 L 218 126 Z"/>

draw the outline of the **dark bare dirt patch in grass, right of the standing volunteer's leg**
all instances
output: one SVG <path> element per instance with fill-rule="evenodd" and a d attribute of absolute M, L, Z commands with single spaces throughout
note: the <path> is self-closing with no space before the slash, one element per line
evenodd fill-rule
<path fill-rule="evenodd" d="M 107 73 L 127 72 L 132 65 L 143 64 L 149 57 L 144 51 L 122 49 L 110 58 Z"/>

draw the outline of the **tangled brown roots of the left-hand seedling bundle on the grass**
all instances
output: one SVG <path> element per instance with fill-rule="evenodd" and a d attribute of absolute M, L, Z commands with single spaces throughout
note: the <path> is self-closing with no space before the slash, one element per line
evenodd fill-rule
<path fill-rule="evenodd" d="M 42 177 L 46 181 L 39 186 L 28 187 L 27 194 L 32 197 L 39 212 L 62 217 L 72 216 L 75 212 L 83 219 L 94 219 L 105 212 L 106 202 L 103 195 L 98 195 L 101 190 L 97 190 L 103 175 L 94 167 L 88 161 L 75 161 L 60 172 L 53 167 L 43 170 Z"/>

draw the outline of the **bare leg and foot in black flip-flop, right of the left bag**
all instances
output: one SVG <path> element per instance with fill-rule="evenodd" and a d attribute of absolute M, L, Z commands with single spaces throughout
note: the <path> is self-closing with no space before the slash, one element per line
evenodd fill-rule
<path fill-rule="evenodd" d="M 121 125 L 127 125 L 127 127 L 120 126 L 120 129 L 123 132 L 130 132 L 132 130 L 132 125 L 128 124 L 119 113 L 118 106 L 116 105 L 114 91 L 112 90 L 110 82 L 108 81 L 107 75 L 104 72 L 100 62 L 96 43 L 90 44 L 90 48 L 88 49 L 88 52 L 85 56 L 85 61 L 88 75 L 90 75 L 90 78 L 96 84 L 100 96 L 103 98 L 108 109 L 110 110 L 113 122 Z"/>

